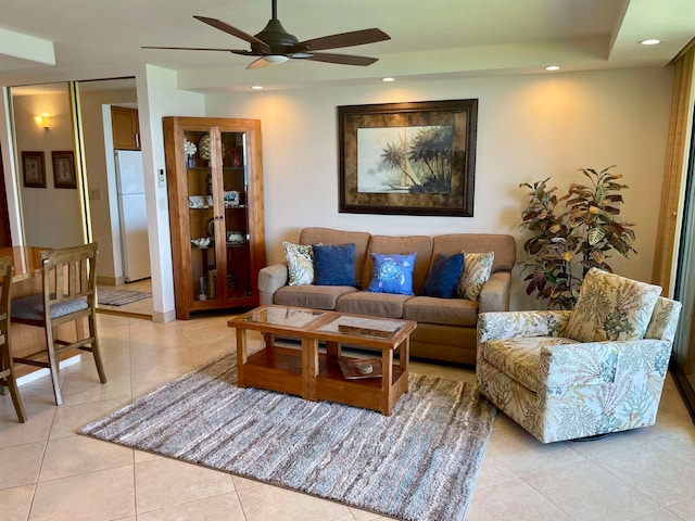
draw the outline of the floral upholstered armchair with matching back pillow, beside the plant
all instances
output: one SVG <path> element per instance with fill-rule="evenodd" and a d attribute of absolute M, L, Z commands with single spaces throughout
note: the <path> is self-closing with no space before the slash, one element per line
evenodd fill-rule
<path fill-rule="evenodd" d="M 483 313 L 482 394 L 543 443 L 653 425 L 681 304 L 596 268 L 572 312 Z"/>

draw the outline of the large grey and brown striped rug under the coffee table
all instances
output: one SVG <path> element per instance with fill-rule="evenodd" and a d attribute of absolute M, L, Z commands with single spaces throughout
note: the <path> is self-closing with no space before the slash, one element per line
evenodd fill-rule
<path fill-rule="evenodd" d="M 463 520 L 496 409 L 410 376 L 393 415 L 239 389 L 225 356 L 79 434 L 404 520 Z"/>

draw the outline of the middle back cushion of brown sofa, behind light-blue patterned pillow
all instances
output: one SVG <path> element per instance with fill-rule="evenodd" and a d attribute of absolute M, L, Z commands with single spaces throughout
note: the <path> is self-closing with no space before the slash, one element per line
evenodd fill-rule
<path fill-rule="evenodd" d="M 413 292 L 416 295 L 422 293 L 422 287 L 430 271 L 432 256 L 432 238 L 428 236 L 372 236 L 367 247 L 367 253 L 387 253 L 408 255 L 415 253 L 415 268 L 413 269 Z M 362 287 L 369 287 L 371 280 L 372 260 L 367 255 L 362 271 Z"/>

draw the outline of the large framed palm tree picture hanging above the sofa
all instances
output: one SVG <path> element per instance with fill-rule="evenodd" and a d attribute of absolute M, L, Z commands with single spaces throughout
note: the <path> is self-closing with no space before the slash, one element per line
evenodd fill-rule
<path fill-rule="evenodd" d="M 478 100 L 338 107 L 339 212 L 472 217 Z"/>

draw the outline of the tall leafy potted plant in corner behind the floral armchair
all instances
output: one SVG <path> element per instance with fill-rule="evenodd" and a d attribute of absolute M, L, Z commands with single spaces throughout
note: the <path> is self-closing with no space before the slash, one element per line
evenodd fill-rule
<path fill-rule="evenodd" d="M 558 199 L 556 187 L 548 188 L 549 177 L 527 187 L 529 205 L 522 212 L 520 228 L 533 234 L 523 243 L 527 258 L 522 272 L 529 275 L 527 294 L 536 292 L 547 298 L 548 308 L 571 309 L 577 303 L 584 275 L 597 267 L 612 272 L 608 265 L 611 251 L 629 257 L 637 253 L 634 223 L 620 221 L 620 174 L 609 166 L 601 171 L 581 168 L 589 185 L 572 183 L 567 194 Z"/>

